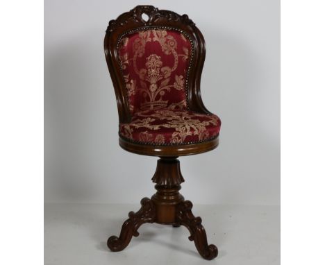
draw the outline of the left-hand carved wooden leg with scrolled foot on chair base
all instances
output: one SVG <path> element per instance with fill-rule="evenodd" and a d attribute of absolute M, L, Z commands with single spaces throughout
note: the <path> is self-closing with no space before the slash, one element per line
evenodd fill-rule
<path fill-rule="evenodd" d="M 121 251 L 128 246 L 132 237 L 138 237 L 138 229 L 143 223 L 153 223 L 156 219 L 155 205 L 149 198 L 142 198 L 142 207 L 136 213 L 129 212 L 128 220 L 122 225 L 119 237 L 112 236 L 107 241 L 107 246 L 112 251 Z"/>

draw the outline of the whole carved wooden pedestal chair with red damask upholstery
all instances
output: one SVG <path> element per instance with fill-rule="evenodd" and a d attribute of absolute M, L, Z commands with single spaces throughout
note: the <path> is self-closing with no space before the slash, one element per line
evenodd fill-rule
<path fill-rule="evenodd" d="M 119 145 L 160 157 L 152 178 L 156 194 L 128 214 L 119 237 L 108 239 L 108 248 L 123 250 L 138 236 L 140 225 L 160 223 L 184 225 L 204 259 L 217 257 L 201 218 L 194 217 L 192 203 L 178 192 L 184 179 L 177 157 L 213 150 L 219 142 L 220 119 L 206 109 L 200 94 L 203 35 L 188 15 L 137 6 L 110 21 L 104 48 L 117 98 Z"/>

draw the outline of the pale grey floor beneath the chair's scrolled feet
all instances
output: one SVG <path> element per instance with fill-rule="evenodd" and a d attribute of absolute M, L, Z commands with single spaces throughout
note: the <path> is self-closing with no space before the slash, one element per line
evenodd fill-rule
<path fill-rule="evenodd" d="M 194 205 L 208 242 L 219 249 L 213 261 L 202 259 L 186 228 L 144 224 L 128 247 L 112 253 L 108 236 L 119 229 L 139 205 L 44 205 L 44 264 L 280 264 L 280 207 Z"/>

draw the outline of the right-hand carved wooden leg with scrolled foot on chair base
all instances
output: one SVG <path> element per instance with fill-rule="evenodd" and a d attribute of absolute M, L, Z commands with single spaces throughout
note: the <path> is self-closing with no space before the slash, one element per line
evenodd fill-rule
<path fill-rule="evenodd" d="M 192 203 L 185 200 L 177 205 L 176 223 L 184 225 L 190 230 L 190 241 L 194 241 L 197 250 L 204 259 L 214 259 L 218 255 L 218 249 L 215 245 L 208 245 L 206 231 L 201 225 L 201 217 L 195 217 L 192 214 Z"/>

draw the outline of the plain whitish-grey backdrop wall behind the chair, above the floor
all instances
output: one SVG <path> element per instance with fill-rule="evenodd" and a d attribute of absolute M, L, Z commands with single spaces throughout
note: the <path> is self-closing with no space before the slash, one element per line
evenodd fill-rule
<path fill-rule="evenodd" d="M 186 13 L 206 39 L 201 92 L 222 119 L 215 151 L 180 157 L 195 203 L 280 203 L 280 1 L 146 1 Z M 103 54 L 108 21 L 138 1 L 44 3 L 44 200 L 140 203 L 156 157 L 118 145 Z"/>

